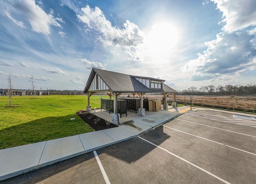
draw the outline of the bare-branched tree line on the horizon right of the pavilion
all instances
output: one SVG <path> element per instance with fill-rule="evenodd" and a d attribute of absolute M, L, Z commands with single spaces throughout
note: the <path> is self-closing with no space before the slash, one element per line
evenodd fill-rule
<path fill-rule="evenodd" d="M 256 95 L 256 85 L 214 85 L 202 86 L 199 89 L 191 86 L 188 89 L 176 90 L 179 95 Z"/>

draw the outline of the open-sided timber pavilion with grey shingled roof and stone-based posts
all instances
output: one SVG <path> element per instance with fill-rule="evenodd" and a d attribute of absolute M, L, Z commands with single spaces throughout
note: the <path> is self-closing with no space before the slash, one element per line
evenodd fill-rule
<path fill-rule="evenodd" d="M 165 80 L 163 79 L 152 77 L 127 75 L 92 68 L 84 89 L 84 93 L 87 93 L 88 95 L 86 109 L 90 108 L 90 97 L 94 93 L 106 93 L 110 98 L 114 98 L 114 115 L 117 114 L 117 99 L 122 93 L 132 93 L 133 97 L 138 94 L 140 97 L 140 109 L 143 109 L 143 98 L 146 93 L 162 93 L 165 97 L 165 100 L 163 101 L 163 109 L 168 109 L 166 103 L 168 93 L 173 95 L 175 102 L 175 95 L 178 92 L 164 84 L 164 81 Z"/>

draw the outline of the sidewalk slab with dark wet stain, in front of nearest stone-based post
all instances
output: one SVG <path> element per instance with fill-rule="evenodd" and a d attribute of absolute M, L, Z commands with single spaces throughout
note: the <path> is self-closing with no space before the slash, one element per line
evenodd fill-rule
<path fill-rule="evenodd" d="M 119 125 L 119 127 L 122 127 L 123 129 L 126 129 L 135 135 L 140 135 L 141 133 L 144 133 L 148 131 L 149 129 L 152 129 L 152 126 L 145 125 L 143 123 L 139 123 L 137 119 L 126 121 Z"/>

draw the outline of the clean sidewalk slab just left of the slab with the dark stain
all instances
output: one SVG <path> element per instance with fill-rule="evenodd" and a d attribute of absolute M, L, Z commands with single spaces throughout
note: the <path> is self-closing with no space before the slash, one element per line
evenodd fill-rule
<path fill-rule="evenodd" d="M 105 129 L 102 130 L 104 133 L 106 133 L 109 137 L 114 139 L 116 142 L 121 142 L 123 140 L 128 140 L 132 137 L 136 137 L 136 134 L 127 131 L 126 129 L 123 129 L 122 127 L 114 127 L 111 129 Z"/>

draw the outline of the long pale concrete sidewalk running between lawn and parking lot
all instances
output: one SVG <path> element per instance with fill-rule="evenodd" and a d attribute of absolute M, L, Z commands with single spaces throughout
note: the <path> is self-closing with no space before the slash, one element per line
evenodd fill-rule
<path fill-rule="evenodd" d="M 132 119 L 128 116 L 124 118 L 127 121 L 121 122 L 118 127 L 112 129 L 2 149 L 0 150 L 0 181 L 137 137 L 187 110 L 190 110 L 187 106 L 170 108 L 158 112 L 147 112 L 144 117 L 133 113 L 135 115 Z"/>

